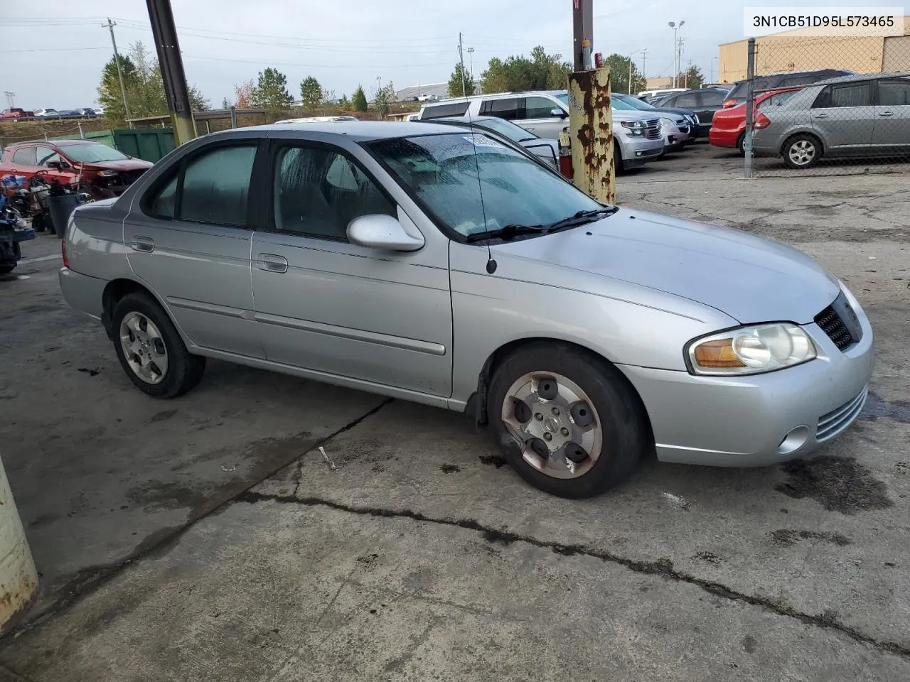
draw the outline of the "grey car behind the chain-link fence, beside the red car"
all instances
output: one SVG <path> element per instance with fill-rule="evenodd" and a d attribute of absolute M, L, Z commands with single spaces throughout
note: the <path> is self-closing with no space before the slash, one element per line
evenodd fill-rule
<path fill-rule="evenodd" d="M 808 85 L 755 118 L 756 155 L 809 168 L 823 156 L 910 155 L 910 74 L 860 74 Z"/>

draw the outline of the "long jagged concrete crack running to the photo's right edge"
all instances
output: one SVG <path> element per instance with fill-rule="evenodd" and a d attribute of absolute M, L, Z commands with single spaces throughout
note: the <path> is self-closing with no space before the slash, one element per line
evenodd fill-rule
<path fill-rule="evenodd" d="M 875 637 L 864 635 L 854 627 L 850 627 L 844 623 L 839 622 L 834 617 L 833 612 L 829 609 L 824 610 L 819 615 L 805 614 L 801 611 L 796 610 L 794 607 L 784 604 L 783 602 L 775 602 L 773 599 L 769 599 L 767 597 L 749 595 L 744 592 L 735 590 L 731 587 L 726 587 L 720 583 L 684 573 L 673 568 L 672 561 L 668 559 L 661 559 L 658 561 L 637 561 L 628 557 L 620 557 L 619 555 L 613 554 L 612 552 L 602 551 L 594 549 L 592 547 L 586 547 L 584 545 L 561 545 L 560 543 L 539 540 L 536 537 L 522 536 L 518 533 L 498 530 L 493 527 L 484 526 L 480 523 L 480 521 L 476 521 L 474 519 L 428 517 L 424 514 L 421 514 L 420 512 L 411 511 L 410 509 L 397 510 L 384 509 L 382 507 L 352 506 L 340 502 L 333 502 L 331 500 L 320 499 L 319 497 L 263 495 L 252 490 L 241 493 L 235 498 L 235 501 L 246 502 L 248 504 L 256 504 L 258 502 L 278 502 L 281 504 L 300 506 L 325 506 L 329 507 L 330 509 L 336 509 L 338 511 L 348 512 L 350 514 L 357 514 L 359 516 L 379 518 L 410 518 L 413 521 L 423 523 L 432 523 L 439 524 L 441 526 L 459 527 L 465 528 L 467 530 L 474 530 L 482 534 L 484 539 L 486 539 L 488 542 L 501 543 L 503 545 L 511 545 L 513 542 L 523 542 L 525 544 L 531 545 L 532 547 L 550 549 L 552 552 L 561 554 L 564 557 L 581 555 L 584 557 L 598 558 L 602 561 L 610 562 L 612 564 L 617 564 L 619 566 L 628 568 L 634 573 L 642 573 L 649 576 L 662 576 L 676 582 L 700 587 L 705 592 L 715 597 L 722 597 L 731 601 L 749 604 L 753 607 L 760 607 L 778 616 L 794 618 L 809 626 L 831 629 L 835 632 L 845 635 L 846 637 L 850 637 L 856 642 L 875 647 L 876 649 L 885 651 L 889 654 L 895 654 L 896 656 L 910 658 L 910 647 L 907 647 L 899 642 L 880 641 L 875 639 Z"/>

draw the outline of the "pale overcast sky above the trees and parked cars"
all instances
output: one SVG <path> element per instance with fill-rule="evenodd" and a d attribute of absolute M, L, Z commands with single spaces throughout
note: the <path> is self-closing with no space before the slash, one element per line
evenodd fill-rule
<path fill-rule="evenodd" d="M 368 95 L 389 80 L 397 88 L 448 81 L 458 58 L 458 32 L 475 72 L 492 56 L 528 54 L 534 45 L 571 61 L 569 0 L 171 0 L 187 80 L 218 107 L 233 98 L 234 85 L 274 66 L 299 83 L 314 75 L 336 96 L 358 84 Z M 593 0 L 595 52 L 636 53 L 646 73 L 672 74 L 672 30 L 685 21 L 682 65 L 691 59 L 716 77 L 717 45 L 743 37 L 744 6 L 783 2 L 643 2 Z M 834 5 L 801 0 L 800 5 Z M 853 0 L 850 6 L 882 3 Z M 118 23 L 117 47 L 126 52 L 141 40 L 154 53 L 144 0 L 0 0 L 0 91 L 15 92 L 15 105 L 29 109 L 91 106 L 101 69 L 110 59 L 106 16 Z M 5 103 L 0 100 L 0 105 Z"/>

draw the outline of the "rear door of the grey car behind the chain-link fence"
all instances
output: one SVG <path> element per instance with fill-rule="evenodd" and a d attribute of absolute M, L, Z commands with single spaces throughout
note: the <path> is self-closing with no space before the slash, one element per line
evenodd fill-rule
<path fill-rule="evenodd" d="M 871 82 L 828 85 L 815 97 L 810 116 L 826 154 L 855 155 L 867 151 L 875 124 Z"/>

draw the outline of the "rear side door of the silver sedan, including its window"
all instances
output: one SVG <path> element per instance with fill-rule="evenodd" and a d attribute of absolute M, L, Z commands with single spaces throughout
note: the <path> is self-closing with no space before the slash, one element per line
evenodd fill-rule
<path fill-rule="evenodd" d="M 262 357 L 250 283 L 249 185 L 258 140 L 205 145 L 133 203 L 129 265 L 197 346 Z"/>

